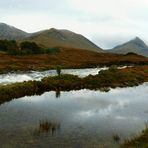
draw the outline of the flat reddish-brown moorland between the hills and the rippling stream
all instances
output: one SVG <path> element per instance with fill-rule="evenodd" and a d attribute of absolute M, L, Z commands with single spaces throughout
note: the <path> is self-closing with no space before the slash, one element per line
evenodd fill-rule
<path fill-rule="evenodd" d="M 11 71 L 48 70 L 62 68 L 89 68 L 110 65 L 148 65 L 148 58 L 134 54 L 97 53 L 82 49 L 59 48 L 57 53 L 37 55 L 8 55 L 0 53 L 0 73 Z"/>

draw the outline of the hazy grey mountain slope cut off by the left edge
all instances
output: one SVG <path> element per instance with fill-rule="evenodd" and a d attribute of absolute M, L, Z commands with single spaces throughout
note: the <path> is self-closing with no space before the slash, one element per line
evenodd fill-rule
<path fill-rule="evenodd" d="M 13 26 L 0 23 L 0 39 L 17 40 L 28 37 L 30 34 Z"/>

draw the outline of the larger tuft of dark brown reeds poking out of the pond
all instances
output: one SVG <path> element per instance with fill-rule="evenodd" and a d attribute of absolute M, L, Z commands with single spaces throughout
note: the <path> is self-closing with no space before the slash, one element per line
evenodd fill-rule
<path fill-rule="evenodd" d="M 57 122 L 50 122 L 48 120 L 40 121 L 39 123 L 39 133 L 49 133 L 52 136 L 60 130 L 60 123 Z"/>

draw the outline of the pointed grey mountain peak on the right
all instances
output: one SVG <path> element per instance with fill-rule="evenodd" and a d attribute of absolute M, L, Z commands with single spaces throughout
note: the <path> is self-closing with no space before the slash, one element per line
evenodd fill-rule
<path fill-rule="evenodd" d="M 122 45 L 109 50 L 111 53 L 127 54 L 133 52 L 139 55 L 148 56 L 148 46 L 139 37 L 134 38 Z"/>

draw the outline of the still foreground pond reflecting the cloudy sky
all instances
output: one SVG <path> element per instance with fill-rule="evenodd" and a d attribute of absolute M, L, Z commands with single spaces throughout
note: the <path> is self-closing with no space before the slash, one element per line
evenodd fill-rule
<path fill-rule="evenodd" d="M 148 83 L 109 92 L 51 91 L 0 106 L 0 144 L 19 148 L 119 147 L 147 121 Z"/>

